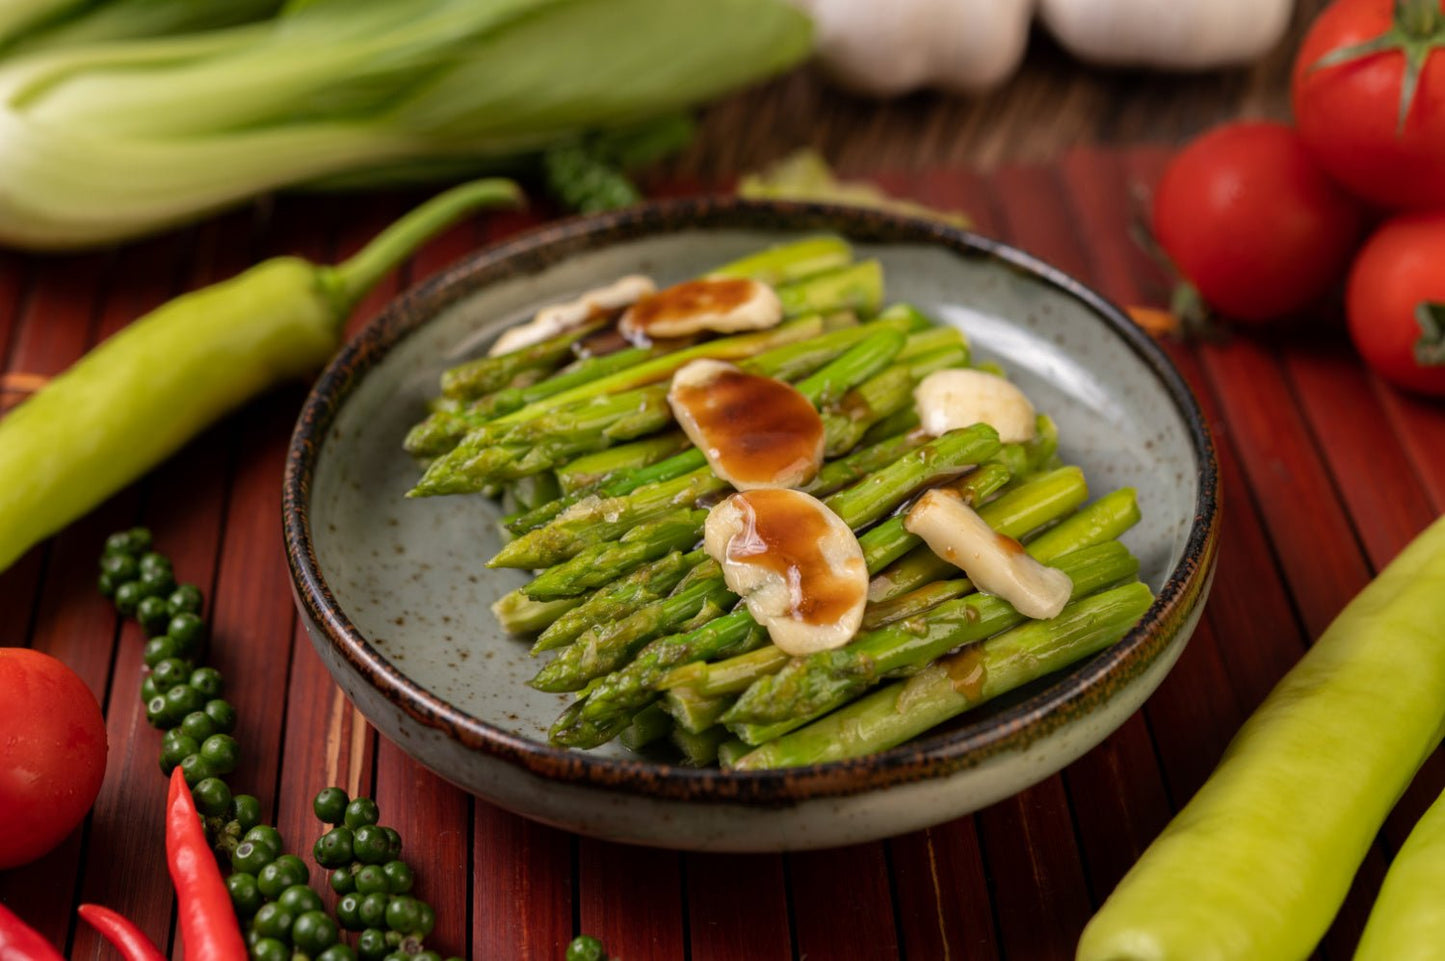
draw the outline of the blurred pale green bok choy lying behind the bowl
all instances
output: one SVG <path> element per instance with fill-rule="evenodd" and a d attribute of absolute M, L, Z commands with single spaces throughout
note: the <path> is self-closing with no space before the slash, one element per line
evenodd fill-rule
<path fill-rule="evenodd" d="M 782 0 L 290 0 L 225 29 L 16 55 L 0 243 L 103 244 L 374 171 L 512 171 L 676 117 L 809 43 Z"/>

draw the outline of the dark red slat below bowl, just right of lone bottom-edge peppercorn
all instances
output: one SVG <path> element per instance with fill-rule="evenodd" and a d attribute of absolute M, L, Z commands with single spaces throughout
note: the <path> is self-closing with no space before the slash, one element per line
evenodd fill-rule
<path fill-rule="evenodd" d="M 608 957 L 626 961 L 685 957 L 682 857 L 676 851 L 578 838 L 577 860 L 582 934 L 600 938 Z"/>

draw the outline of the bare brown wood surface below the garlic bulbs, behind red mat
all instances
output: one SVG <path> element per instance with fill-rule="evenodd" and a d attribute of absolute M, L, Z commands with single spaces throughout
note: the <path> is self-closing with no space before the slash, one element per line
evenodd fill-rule
<path fill-rule="evenodd" d="M 1079 146 L 1181 143 L 1241 117 L 1287 120 L 1295 49 L 1327 3 L 1296 0 L 1287 32 L 1257 62 L 1201 74 L 1088 66 L 1042 29 L 1014 77 L 972 97 L 920 91 L 879 101 L 840 90 L 819 69 L 795 71 L 705 110 L 696 143 L 662 176 L 712 182 L 803 146 L 847 175 L 994 171 L 1052 163 Z"/>

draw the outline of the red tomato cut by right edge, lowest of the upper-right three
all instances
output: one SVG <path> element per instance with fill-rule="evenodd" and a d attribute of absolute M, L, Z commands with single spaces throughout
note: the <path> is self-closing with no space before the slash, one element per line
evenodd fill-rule
<path fill-rule="evenodd" d="M 1422 324 L 1418 311 L 1420 303 L 1445 305 L 1442 263 L 1445 211 L 1400 214 L 1366 241 L 1345 293 L 1350 335 L 1370 367 L 1400 387 L 1439 396 L 1445 331 L 1432 318 Z"/>

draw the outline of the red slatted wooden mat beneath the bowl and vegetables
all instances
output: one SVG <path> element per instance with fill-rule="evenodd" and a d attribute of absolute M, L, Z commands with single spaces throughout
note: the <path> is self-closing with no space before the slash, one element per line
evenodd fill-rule
<path fill-rule="evenodd" d="M 709 134 L 711 136 L 711 134 Z M 894 168 L 893 189 L 968 211 L 1123 303 L 1169 279 L 1134 243 L 1139 195 L 1166 147 L 1075 149 L 1055 163 Z M 181 289 L 293 251 L 354 250 L 406 198 L 288 198 L 116 253 L 0 257 L 0 371 L 62 370 Z M 357 312 L 533 223 L 454 228 Z M 142 636 L 95 592 L 105 533 L 143 523 L 181 579 L 207 590 L 211 662 L 240 711 L 238 789 L 309 851 L 318 788 L 370 792 L 406 838 L 436 947 L 474 960 L 561 958 L 578 931 L 626 961 L 1066 958 L 1118 877 L 1198 788 L 1308 640 L 1445 510 L 1445 408 L 1384 387 L 1338 325 L 1168 345 L 1215 434 L 1224 536 L 1205 619 L 1159 692 L 1058 776 L 928 831 L 789 856 L 695 856 L 603 844 L 499 811 L 377 737 L 302 633 L 280 549 L 280 473 L 302 389 L 275 393 L 0 575 L 0 642 L 56 655 L 101 697 L 110 763 L 94 812 L 56 851 L 0 873 L 0 902 L 72 958 L 111 957 L 72 906 L 111 905 L 175 951 L 162 857 L 159 734 L 139 702 Z M 13 395 L 10 399 L 13 400 Z M 1389 856 L 1445 786 L 1439 757 L 1387 822 L 1321 954 L 1345 958 Z"/>

